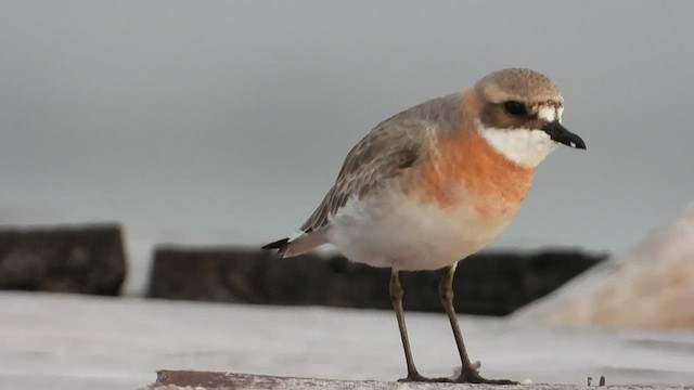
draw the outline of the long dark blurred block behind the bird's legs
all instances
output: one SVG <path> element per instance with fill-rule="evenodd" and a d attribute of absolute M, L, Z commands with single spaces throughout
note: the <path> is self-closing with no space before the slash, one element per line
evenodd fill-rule
<path fill-rule="evenodd" d="M 580 251 L 476 255 L 458 268 L 455 307 L 461 313 L 504 315 L 604 258 Z M 406 310 L 442 311 L 440 276 L 441 271 L 401 273 Z M 390 309 L 389 277 L 389 269 L 342 256 L 278 259 L 256 249 L 167 246 L 155 250 L 147 297 Z"/>

